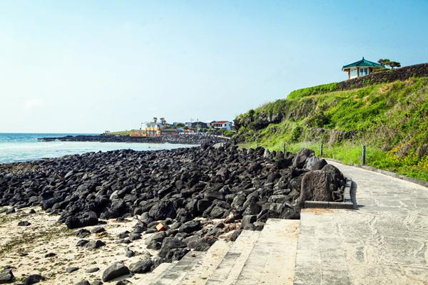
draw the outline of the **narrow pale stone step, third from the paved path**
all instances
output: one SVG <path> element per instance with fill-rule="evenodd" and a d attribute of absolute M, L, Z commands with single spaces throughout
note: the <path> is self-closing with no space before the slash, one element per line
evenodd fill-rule
<path fill-rule="evenodd" d="M 218 264 L 220 264 L 228 253 L 230 244 L 232 244 L 232 242 L 225 242 L 223 240 L 215 242 L 215 244 L 208 249 L 208 252 L 196 262 L 193 268 L 183 279 L 181 279 L 180 282 L 178 282 L 178 284 L 206 284 L 208 277 L 213 273 Z"/>

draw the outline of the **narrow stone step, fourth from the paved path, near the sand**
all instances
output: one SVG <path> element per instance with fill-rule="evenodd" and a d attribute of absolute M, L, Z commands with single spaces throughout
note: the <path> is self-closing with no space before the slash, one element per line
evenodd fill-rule
<path fill-rule="evenodd" d="M 148 284 L 177 285 L 205 254 L 207 254 L 207 252 L 188 252 L 180 261 L 169 266 L 157 279 Z"/>

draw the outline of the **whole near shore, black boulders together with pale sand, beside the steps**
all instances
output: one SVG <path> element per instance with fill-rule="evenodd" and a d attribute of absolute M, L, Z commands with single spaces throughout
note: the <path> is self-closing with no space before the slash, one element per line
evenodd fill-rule
<path fill-rule="evenodd" d="M 19 281 L 40 274 L 47 284 L 100 279 L 115 261 L 133 273 L 119 279 L 144 278 L 159 264 L 207 251 L 219 239 L 233 242 L 242 230 L 260 231 L 269 218 L 299 219 L 307 200 L 343 199 L 346 182 L 312 150 L 238 150 L 230 143 L 88 152 L 29 165 L 34 169 L 20 163 L 15 172 L 0 169 L 7 249 L 0 262 L 8 263 L 0 266 L 11 266 L 4 270 Z M 44 234 L 49 229 L 56 234 Z M 35 250 L 30 232 L 40 240 Z M 49 247 L 46 236 L 54 237 Z M 92 255 L 102 262 L 88 263 Z M 52 266 L 55 259 L 60 263 Z M 91 266 L 99 269 L 78 274 Z"/>

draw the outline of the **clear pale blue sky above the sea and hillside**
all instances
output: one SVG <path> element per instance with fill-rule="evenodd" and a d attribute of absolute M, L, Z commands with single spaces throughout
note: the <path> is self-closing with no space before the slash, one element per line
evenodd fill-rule
<path fill-rule="evenodd" d="M 343 65 L 428 62 L 428 1 L 0 1 L 0 133 L 233 120 Z"/>

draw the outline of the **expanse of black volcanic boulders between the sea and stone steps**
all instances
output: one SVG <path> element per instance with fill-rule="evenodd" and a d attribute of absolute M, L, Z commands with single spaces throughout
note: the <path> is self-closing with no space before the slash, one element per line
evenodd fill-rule
<path fill-rule="evenodd" d="M 89 152 L 33 163 L 30 171 L 0 169 L 0 207 L 7 206 L 1 215 L 41 207 L 68 229 L 80 228 L 76 247 L 91 250 L 106 246 L 97 234 L 103 229 L 94 228 L 134 219 L 132 229 L 118 233 L 115 242 L 136 246 L 143 241 L 146 249 L 158 250 L 156 257 L 104 267 L 103 281 L 152 271 L 190 250 L 207 250 L 217 239 L 233 241 L 242 229 L 263 229 L 270 217 L 299 219 L 305 200 L 343 201 L 345 188 L 342 173 L 307 149 L 292 154 L 203 144 Z M 31 222 L 22 219 L 19 227 L 27 226 Z M 92 234 L 98 238 L 87 239 Z"/>

